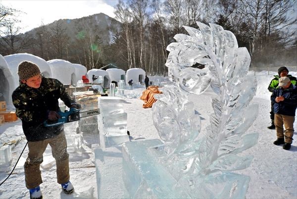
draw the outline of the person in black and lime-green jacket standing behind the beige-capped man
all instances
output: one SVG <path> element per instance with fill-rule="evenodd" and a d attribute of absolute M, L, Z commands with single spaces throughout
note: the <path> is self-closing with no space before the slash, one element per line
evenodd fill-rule
<path fill-rule="evenodd" d="M 289 75 L 288 73 L 289 73 L 289 70 L 288 70 L 287 67 L 285 67 L 285 66 L 280 67 L 278 69 L 278 74 L 279 75 L 274 75 L 274 79 L 271 80 L 271 82 L 270 82 L 270 84 L 268 86 L 268 91 L 273 93 L 273 91 L 278 87 L 278 84 L 279 84 L 278 80 L 281 77 L 289 77 L 290 80 L 291 80 L 291 83 L 293 85 L 296 85 L 297 78 L 292 76 L 292 75 Z M 271 110 L 270 110 L 271 126 L 267 127 L 268 129 L 275 129 L 273 104 L 274 104 L 274 101 L 271 100 Z"/>

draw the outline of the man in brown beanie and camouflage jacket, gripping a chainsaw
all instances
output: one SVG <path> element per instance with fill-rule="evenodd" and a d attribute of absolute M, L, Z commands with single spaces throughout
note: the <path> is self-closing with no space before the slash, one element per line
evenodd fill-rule
<path fill-rule="evenodd" d="M 20 85 L 12 93 L 12 101 L 16 115 L 22 120 L 22 127 L 28 141 L 28 157 L 24 164 L 26 187 L 31 199 L 42 199 L 40 184 L 40 164 L 48 144 L 56 161 L 57 183 L 66 194 L 71 194 L 74 188 L 69 181 L 69 155 L 63 124 L 45 127 L 44 121 L 55 121 L 60 118 L 58 99 L 68 107 L 79 108 L 73 103 L 61 82 L 45 78 L 39 67 L 29 61 L 23 61 L 18 66 Z"/>

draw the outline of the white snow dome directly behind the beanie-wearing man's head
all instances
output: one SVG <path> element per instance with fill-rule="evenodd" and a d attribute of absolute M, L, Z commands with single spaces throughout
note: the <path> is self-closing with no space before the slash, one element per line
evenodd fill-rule
<path fill-rule="evenodd" d="M 7 62 L 8 67 L 11 71 L 11 75 L 14 80 L 14 89 L 19 86 L 19 77 L 17 74 L 17 69 L 18 69 L 18 65 L 22 61 L 31 61 L 35 63 L 36 65 L 38 65 L 40 72 L 45 77 L 51 77 L 52 73 L 47 61 L 33 54 L 28 54 L 28 53 L 10 54 L 10 55 L 4 56 L 4 59 Z"/>

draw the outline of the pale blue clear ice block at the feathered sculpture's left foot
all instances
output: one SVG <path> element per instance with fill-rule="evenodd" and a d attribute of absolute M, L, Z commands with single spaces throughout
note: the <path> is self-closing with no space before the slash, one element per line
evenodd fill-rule
<path fill-rule="evenodd" d="M 191 198 L 159 164 L 156 149 L 162 145 L 158 139 L 123 144 L 123 181 L 130 198 Z"/>

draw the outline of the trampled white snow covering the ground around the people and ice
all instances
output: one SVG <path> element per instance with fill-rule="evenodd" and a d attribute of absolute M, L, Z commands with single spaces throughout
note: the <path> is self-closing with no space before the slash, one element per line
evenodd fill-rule
<path fill-rule="evenodd" d="M 253 72 L 249 73 L 253 76 Z M 270 125 L 270 93 L 267 90 L 268 84 L 272 79 L 273 73 L 268 75 L 266 72 L 256 73 L 258 89 L 256 96 L 251 103 L 259 105 L 259 114 L 255 118 L 253 125 L 248 129 L 248 133 L 259 133 L 258 143 L 243 152 L 243 155 L 253 155 L 251 165 L 238 173 L 250 176 L 251 180 L 247 190 L 247 199 L 296 199 L 297 198 L 297 132 L 294 132 L 294 141 L 290 150 L 284 150 L 281 146 L 273 145 L 276 139 L 275 130 L 269 130 L 266 127 Z M 276 74 L 276 73 L 275 73 Z M 297 76 L 296 73 L 289 73 Z M 125 94 L 134 93 L 134 96 L 140 96 L 144 89 L 135 89 L 133 91 L 125 90 Z M 191 95 L 190 99 L 195 103 L 196 110 L 199 112 L 202 122 L 202 128 L 209 124 L 209 114 L 213 112 L 210 104 L 210 98 L 214 93 L 208 89 L 202 95 Z M 133 95 L 131 95 L 133 96 Z M 157 139 L 158 133 L 152 122 L 151 108 L 142 108 L 143 101 L 139 98 L 125 98 L 124 109 L 128 113 L 127 128 L 133 138 Z M 77 122 L 65 124 L 66 134 L 76 134 Z M 297 118 L 294 124 L 297 129 Z M 65 195 L 61 192 L 60 186 L 56 183 L 55 167 L 49 167 L 48 170 L 42 170 L 44 183 L 41 184 L 44 199 L 73 199 L 73 198 L 97 198 L 96 168 L 94 165 L 91 141 L 89 136 L 83 135 L 84 152 L 78 156 L 70 153 L 70 180 L 75 187 L 76 193 Z M 96 137 L 96 135 L 93 135 Z M 12 167 L 26 144 L 26 139 L 22 132 L 20 120 L 14 123 L 5 123 L 0 126 L 0 143 L 14 142 L 12 144 L 13 161 L 6 172 L 0 172 L 0 182 L 2 182 Z M 143 140 L 143 139 L 140 139 Z M 25 149 L 20 162 L 15 168 L 13 174 L 0 187 L 1 199 L 29 198 L 29 192 L 25 187 L 23 163 L 26 158 L 27 149 Z M 112 161 L 113 158 L 106 158 L 106 161 Z M 100 168 L 99 168 L 100 170 Z M 105 171 L 102 170 L 101 175 Z M 112 173 L 112 168 L 106 171 L 106 175 Z M 115 186 L 114 181 L 110 180 L 101 186 L 102 189 L 110 189 Z M 119 188 L 119 193 L 121 192 Z M 116 198 L 113 197 L 110 198 Z"/>

